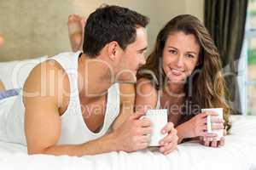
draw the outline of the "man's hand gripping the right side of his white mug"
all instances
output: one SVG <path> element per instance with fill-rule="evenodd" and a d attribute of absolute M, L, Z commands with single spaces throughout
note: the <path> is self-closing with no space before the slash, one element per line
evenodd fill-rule
<path fill-rule="evenodd" d="M 168 133 L 164 139 L 160 140 L 160 152 L 167 155 L 177 149 L 177 130 L 172 122 L 168 122 L 161 133 Z"/>

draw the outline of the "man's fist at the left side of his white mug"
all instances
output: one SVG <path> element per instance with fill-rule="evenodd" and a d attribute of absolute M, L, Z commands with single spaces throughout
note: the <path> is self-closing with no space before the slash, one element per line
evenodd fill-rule
<path fill-rule="evenodd" d="M 143 150 L 148 147 L 150 134 L 152 132 L 151 122 L 148 118 L 142 116 L 145 112 L 133 113 L 126 122 L 124 122 L 115 133 L 119 150 L 132 152 Z"/>

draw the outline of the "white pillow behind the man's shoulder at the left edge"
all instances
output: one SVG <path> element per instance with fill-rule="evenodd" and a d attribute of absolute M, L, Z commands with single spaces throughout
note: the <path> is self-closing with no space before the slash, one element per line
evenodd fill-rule
<path fill-rule="evenodd" d="M 22 88 L 30 71 L 47 58 L 48 56 L 45 55 L 36 59 L 0 62 L 0 80 L 7 90 Z"/>

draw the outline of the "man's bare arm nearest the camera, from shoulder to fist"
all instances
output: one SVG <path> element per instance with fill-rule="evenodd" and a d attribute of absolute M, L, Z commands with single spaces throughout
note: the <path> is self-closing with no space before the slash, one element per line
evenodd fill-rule
<path fill-rule="evenodd" d="M 148 146 L 148 138 L 144 134 L 149 133 L 150 122 L 139 120 L 142 114 L 133 114 L 121 127 L 102 138 L 84 144 L 57 145 L 61 135 L 59 107 L 62 97 L 60 95 L 64 91 L 63 82 L 68 82 L 68 79 L 65 78 L 64 73 L 61 73 L 60 65 L 50 62 L 53 61 L 35 67 L 24 86 L 28 154 L 84 156 L 118 150 L 130 152 Z M 42 65 L 44 69 L 41 68 Z M 29 94 L 36 95 L 29 97 Z"/>

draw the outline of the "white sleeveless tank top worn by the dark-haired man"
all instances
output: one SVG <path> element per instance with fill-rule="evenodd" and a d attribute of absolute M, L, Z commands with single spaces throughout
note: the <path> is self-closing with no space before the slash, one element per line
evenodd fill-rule
<path fill-rule="evenodd" d="M 90 140 L 98 139 L 108 132 L 109 127 L 119 115 L 119 84 L 114 83 L 108 88 L 107 108 L 101 130 L 98 133 L 93 133 L 86 126 L 79 101 L 78 61 L 80 53 L 81 52 L 62 53 L 49 58 L 58 62 L 67 72 L 70 83 L 69 104 L 67 106 L 67 111 L 60 116 L 61 136 L 57 144 L 83 144 Z M 24 133 L 25 108 L 22 102 L 22 94 L 15 100 L 13 108 L 13 110 L 9 111 L 6 123 L 4 123 L 6 129 L 5 140 L 26 144 Z"/>

